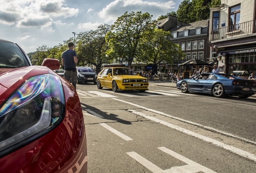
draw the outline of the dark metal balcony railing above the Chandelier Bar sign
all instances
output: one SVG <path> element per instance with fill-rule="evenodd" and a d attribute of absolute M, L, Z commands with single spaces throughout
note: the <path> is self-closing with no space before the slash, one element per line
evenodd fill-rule
<path fill-rule="evenodd" d="M 255 30 L 256 20 L 235 24 L 212 31 L 212 40 L 219 40 L 223 38 L 231 38 L 242 34 L 252 34 Z"/>

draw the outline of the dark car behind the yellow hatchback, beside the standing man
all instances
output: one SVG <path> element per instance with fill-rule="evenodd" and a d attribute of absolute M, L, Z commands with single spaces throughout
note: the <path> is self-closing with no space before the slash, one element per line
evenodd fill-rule
<path fill-rule="evenodd" d="M 76 67 L 77 68 L 77 83 L 93 82 L 96 84 L 97 74 L 90 67 Z"/>

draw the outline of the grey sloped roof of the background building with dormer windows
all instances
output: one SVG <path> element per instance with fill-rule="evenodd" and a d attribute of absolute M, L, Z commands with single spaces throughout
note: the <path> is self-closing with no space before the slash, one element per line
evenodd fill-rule
<path fill-rule="evenodd" d="M 178 26 L 172 26 L 169 31 L 174 32 L 174 31 L 183 31 L 183 30 L 186 30 L 186 29 L 195 29 L 197 27 L 206 27 L 207 24 L 208 24 L 208 19 L 200 20 L 198 22 L 183 24 L 179 27 Z"/>

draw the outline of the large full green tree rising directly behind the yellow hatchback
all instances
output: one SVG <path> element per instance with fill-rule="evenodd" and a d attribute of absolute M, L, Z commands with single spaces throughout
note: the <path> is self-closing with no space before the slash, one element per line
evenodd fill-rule
<path fill-rule="evenodd" d="M 125 12 L 111 26 L 111 31 L 107 33 L 106 40 L 109 43 L 108 54 L 116 59 L 123 57 L 128 66 L 136 58 L 139 58 L 142 42 L 147 38 L 147 34 L 155 28 L 152 15 L 142 12 Z"/>

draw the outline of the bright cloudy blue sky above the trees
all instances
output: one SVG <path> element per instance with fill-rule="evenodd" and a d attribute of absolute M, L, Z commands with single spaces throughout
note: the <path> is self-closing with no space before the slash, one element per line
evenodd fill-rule
<path fill-rule="evenodd" d="M 126 11 L 148 12 L 153 20 L 177 11 L 183 0 L 0 0 L 0 39 L 19 44 L 26 53 L 52 48 L 72 32 L 113 24 Z"/>

